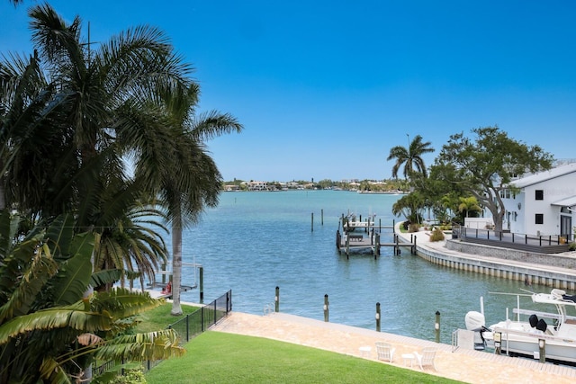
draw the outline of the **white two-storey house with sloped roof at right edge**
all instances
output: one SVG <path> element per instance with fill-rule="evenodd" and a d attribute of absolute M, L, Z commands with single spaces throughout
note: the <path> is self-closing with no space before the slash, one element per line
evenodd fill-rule
<path fill-rule="evenodd" d="M 500 192 L 506 213 L 503 229 L 527 235 L 572 239 L 576 223 L 576 163 L 518 178 L 518 193 Z"/>

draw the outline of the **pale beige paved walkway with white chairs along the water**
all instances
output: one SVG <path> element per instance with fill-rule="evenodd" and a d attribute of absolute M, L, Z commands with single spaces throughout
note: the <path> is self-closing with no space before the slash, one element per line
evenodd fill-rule
<path fill-rule="evenodd" d="M 434 346 L 438 350 L 435 359 L 437 371 L 431 367 L 425 367 L 424 371 L 432 375 L 467 383 L 572 384 L 576 381 L 576 369 L 570 367 L 551 363 L 542 364 L 529 359 L 511 358 L 464 349 L 457 349 L 452 352 L 452 346 L 448 344 L 437 344 L 284 313 L 257 316 L 232 312 L 228 317 L 220 320 L 219 324 L 211 327 L 211 330 L 266 337 L 362 357 L 376 362 L 380 361 L 376 358 L 375 342 L 385 341 L 396 348 L 392 365 L 416 371 L 420 371 L 417 364 L 411 368 L 410 365 L 405 365 L 401 354 L 419 352 L 425 346 Z M 371 351 L 367 354 L 360 353 L 362 346 L 369 346 Z"/>

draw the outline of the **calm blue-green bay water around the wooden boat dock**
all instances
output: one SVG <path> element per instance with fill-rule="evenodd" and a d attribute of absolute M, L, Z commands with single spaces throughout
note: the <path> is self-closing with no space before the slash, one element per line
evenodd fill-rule
<path fill-rule="evenodd" d="M 365 218 L 375 214 L 392 225 L 392 204 L 401 196 L 339 191 L 223 192 L 217 208 L 184 232 L 184 263 L 203 266 L 204 301 L 232 290 L 236 311 L 261 315 L 273 305 L 280 287 L 280 311 L 323 320 L 324 295 L 329 295 L 329 321 L 375 329 L 380 302 L 383 332 L 434 340 L 434 322 L 441 313 L 441 341 L 450 343 L 464 315 L 480 310 L 484 298 L 487 323 L 516 307 L 519 281 L 460 272 L 428 263 L 402 251 L 383 248 L 374 256 L 338 255 L 338 219 L 348 212 Z M 323 210 L 323 225 L 321 211 Z M 311 215 L 314 214 L 314 230 Z M 392 230 L 383 229 L 392 241 Z M 184 268 L 183 283 L 197 281 Z M 549 290 L 533 286 L 533 290 Z M 197 302 L 198 290 L 183 292 L 183 301 Z M 524 304 L 523 304 L 524 303 Z M 528 301 L 521 301 L 527 307 Z M 511 316 L 511 315 L 510 315 Z"/>

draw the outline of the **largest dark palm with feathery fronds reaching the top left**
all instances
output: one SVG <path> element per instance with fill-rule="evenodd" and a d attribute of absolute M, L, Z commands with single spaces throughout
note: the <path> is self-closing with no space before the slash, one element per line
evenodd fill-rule
<path fill-rule="evenodd" d="M 192 69 L 156 29 L 126 31 L 91 49 L 80 40 L 79 18 L 67 24 L 48 4 L 31 8 L 30 15 L 34 56 L 0 64 L 0 105 L 7 106 L 0 110 L 0 165 L 10 180 L 4 206 L 36 219 L 75 212 L 78 231 L 92 228 L 105 240 L 130 222 L 122 215 L 154 193 L 140 191 L 143 185 L 123 169 L 126 154 L 166 150 L 169 122 L 153 95 L 186 92 Z M 138 241 L 130 250 L 114 247 L 124 252 L 114 256 L 119 268 L 121 260 L 145 255 L 132 260 L 149 272 L 149 256 L 165 257 L 154 236 L 140 239 L 150 252 L 137 251 Z"/>

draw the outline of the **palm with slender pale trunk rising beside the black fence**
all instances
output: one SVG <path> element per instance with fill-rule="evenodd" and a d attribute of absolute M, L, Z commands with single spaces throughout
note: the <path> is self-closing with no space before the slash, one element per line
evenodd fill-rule
<path fill-rule="evenodd" d="M 205 207 L 215 206 L 221 191 L 222 177 L 204 141 L 232 131 L 242 125 L 228 113 L 216 111 L 196 114 L 200 89 L 191 85 L 185 94 L 158 94 L 166 105 L 172 135 L 164 138 L 166 150 L 157 157 L 140 157 L 136 178 L 156 189 L 166 207 L 172 227 L 172 311 L 181 315 L 180 286 L 182 282 L 182 231 L 197 223 Z M 158 166 L 158 164 L 162 166 Z"/>

